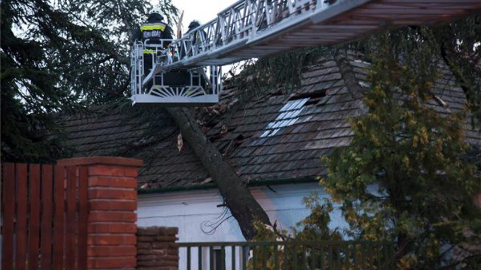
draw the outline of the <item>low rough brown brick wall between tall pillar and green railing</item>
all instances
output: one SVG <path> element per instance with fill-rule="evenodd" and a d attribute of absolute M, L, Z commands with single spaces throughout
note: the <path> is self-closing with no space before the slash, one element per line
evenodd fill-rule
<path fill-rule="evenodd" d="M 137 270 L 178 270 L 178 229 L 137 229 Z"/>

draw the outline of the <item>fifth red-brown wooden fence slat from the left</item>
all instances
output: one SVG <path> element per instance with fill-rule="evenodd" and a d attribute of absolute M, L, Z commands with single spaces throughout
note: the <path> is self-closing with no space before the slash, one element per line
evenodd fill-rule
<path fill-rule="evenodd" d="M 65 223 L 65 176 L 63 166 L 55 166 L 55 220 L 53 244 L 53 269 L 63 270 L 63 233 Z"/>

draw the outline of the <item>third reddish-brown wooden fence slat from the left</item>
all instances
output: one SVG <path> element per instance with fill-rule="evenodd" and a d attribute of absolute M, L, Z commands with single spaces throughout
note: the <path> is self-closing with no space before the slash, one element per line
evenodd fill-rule
<path fill-rule="evenodd" d="M 38 270 L 40 233 L 40 165 L 30 164 L 30 219 L 28 227 L 28 269 Z"/>

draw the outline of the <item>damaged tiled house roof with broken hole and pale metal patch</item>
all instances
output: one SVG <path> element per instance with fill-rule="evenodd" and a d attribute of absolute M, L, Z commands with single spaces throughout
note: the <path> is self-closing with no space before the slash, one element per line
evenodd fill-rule
<path fill-rule="evenodd" d="M 294 92 L 272 91 L 233 106 L 236 88 L 226 87 L 219 105 L 200 108 L 206 136 L 246 181 L 303 179 L 324 175 L 321 156 L 348 146 L 348 120 L 363 114 L 369 63 L 350 55 L 308 67 Z M 466 96 L 441 67 L 430 105 L 441 113 L 462 110 Z M 240 108 L 239 108 L 240 107 Z M 237 109 L 235 109 L 237 108 Z M 74 157 L 104 155 L 139 158 L 142 189 L 193 186 L 212 180 L 192 149 L 179 151 L 179 130 L 165 111 L 138 115 L 131 107 L 65 117 L 67 145 Z M 479 130 L 466 126 L 470 144 L 481 146 Z"/>

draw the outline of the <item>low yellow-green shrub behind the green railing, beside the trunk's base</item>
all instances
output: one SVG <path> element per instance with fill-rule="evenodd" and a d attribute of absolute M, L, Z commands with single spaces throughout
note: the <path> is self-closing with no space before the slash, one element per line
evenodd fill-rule
<path fill-rule="evenodd" d="M 329 229 L 332 201 L 317 194 L 304 198 L 311 214 L 293 228 L 275 230 L 255 222 L 257 235 L 251 248 L 251 269 L 393 269 L 392 243 L 386 241 L 344 241 L 337 230 Z M 277 241 L 277 243 L 276 243 Z M 280 242 L 282 241 L 282 242 Z"/>

